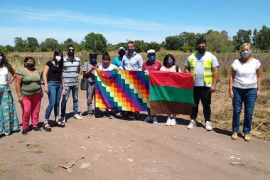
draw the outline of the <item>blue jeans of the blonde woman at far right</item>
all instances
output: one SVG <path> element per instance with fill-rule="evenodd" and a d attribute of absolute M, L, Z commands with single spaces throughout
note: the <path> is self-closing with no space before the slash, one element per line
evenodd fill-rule
<path fill-rule="evenodd" d="M 232 132 L 239 132 L 240 113 L 244 102 L 243 133 L 250 134 L 250 129 L 252 129 L 253 110 L 257 100 L 257 88 L 240 89 L 233 87 L 232 91 L 234 92 L 234 97 L 232 99 L 232 107 L 234 109 L 232 116 Z"/>

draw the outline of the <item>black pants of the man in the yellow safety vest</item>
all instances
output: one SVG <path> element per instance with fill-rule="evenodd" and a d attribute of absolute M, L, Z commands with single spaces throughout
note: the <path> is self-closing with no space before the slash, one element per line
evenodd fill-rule
<path fill-rule="evenodd" d="M 199 110 L 199 102 L 202 102 L 203 116 L 205 117 L 205 122 L 211 121 L 211 92 L 208 87 L 194 87 L 193 97 L 195 101 L 195 106 L 193 107 L 191 120 L 196 120 Z"/>

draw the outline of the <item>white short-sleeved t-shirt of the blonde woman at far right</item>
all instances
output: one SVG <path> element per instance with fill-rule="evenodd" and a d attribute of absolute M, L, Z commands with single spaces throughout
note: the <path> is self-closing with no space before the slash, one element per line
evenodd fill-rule
<path fill-rule="evenodd" d="M 259 60 L 254 58 L 247 63 L 241 63 L 239 59 L 234 60 L 232 69 L 236 71 L 236 74 L 233 86 L 241 89 L 257 88 L 256 71 L 260 65 Z"/>

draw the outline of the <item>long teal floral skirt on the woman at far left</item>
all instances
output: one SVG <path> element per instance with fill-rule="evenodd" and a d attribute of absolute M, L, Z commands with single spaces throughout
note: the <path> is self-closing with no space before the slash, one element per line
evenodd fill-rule
<path fill-rule="evenodd" d="M 18 131 L 20 124 L 11 92 L 7 85 L 0 85 L 0 135 Z"/>

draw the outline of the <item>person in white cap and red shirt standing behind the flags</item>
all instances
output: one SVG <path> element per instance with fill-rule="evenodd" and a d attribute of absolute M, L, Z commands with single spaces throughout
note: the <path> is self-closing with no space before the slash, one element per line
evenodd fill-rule
<path fill-rule="evenodd" d="M 159 60 L 156 60 L 156 51 L 153 49 L 149 49 L 147 51 L 147 58 L 148 60 L 144 61 L 141 70 L 160 70 L 162 67 L 162 63 Z M 148 112 L 148 116 L 144 119 L 144 122 L 149 122 L 153 120 L 153 124 L 158 123 L 158 119 L 156 118 L 156 115 L 153 117 L 150 116 L 150 112 Z"/>

